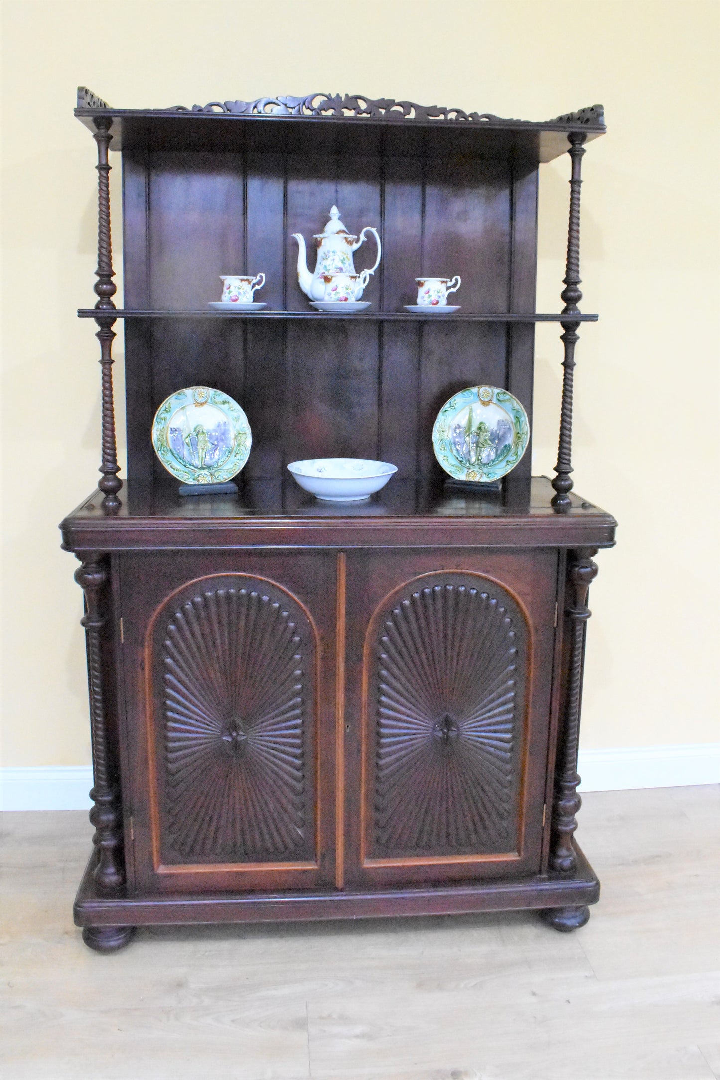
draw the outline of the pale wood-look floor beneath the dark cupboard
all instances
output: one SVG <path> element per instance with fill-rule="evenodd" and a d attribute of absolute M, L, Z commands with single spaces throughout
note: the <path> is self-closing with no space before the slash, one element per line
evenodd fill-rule
<path fill-rule="evenodd" d="M 589 924 L 532 914 L 141 930 L 71 921 L 82 812 L 2 814 L 2 1080 L 720 1076 L 717 788 L 585 797 Z"/>

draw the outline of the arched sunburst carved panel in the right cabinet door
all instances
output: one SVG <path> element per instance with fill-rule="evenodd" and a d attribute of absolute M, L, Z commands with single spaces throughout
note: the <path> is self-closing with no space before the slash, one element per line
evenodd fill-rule
<path fill-rule="evenodd" d="M 477 575 L 433 573 L 370 627 L 368 854 L 517 845 L 528 630 Z"/>

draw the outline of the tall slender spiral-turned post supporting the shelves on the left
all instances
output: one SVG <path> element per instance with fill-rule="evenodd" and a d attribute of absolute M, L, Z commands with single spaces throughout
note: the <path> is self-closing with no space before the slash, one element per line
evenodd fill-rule
<path fill-rule="evenodd" d="M 97 270 L 95 275 L 95 293 L 97 294 L 97 312 L 95 322 L 99 329 L 96 334 L 100 342 L 101 397 L 103 397 L 103 460 L 99 472 L 103 474 L 98 487 L 103 492 L 103 509 L 114 514 L 120 509 L 118 491 L 122 481 L 118 476 L 118 449 L 116 443 L 116 417 L 112 399 L 112 340 L 114 333 L 112 324 L 116 321 L 116 306 L 112 297 L 117 285 L 113 282 L 112 242 L 110 238 L 110 164 L 108 149 L 110 146 L 110 117 L 95 118 L 94 139 L 97 143 Z"/>

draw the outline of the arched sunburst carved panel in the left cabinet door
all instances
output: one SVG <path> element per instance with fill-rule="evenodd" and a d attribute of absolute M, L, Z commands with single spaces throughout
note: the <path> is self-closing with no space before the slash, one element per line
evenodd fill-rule
<path fill-rule="evenodd" d="M 315 642 L 300 604 L 261 579 L 207 578 L 173 597 L 154 643 L 163 861 L 313 858 Z"/>

